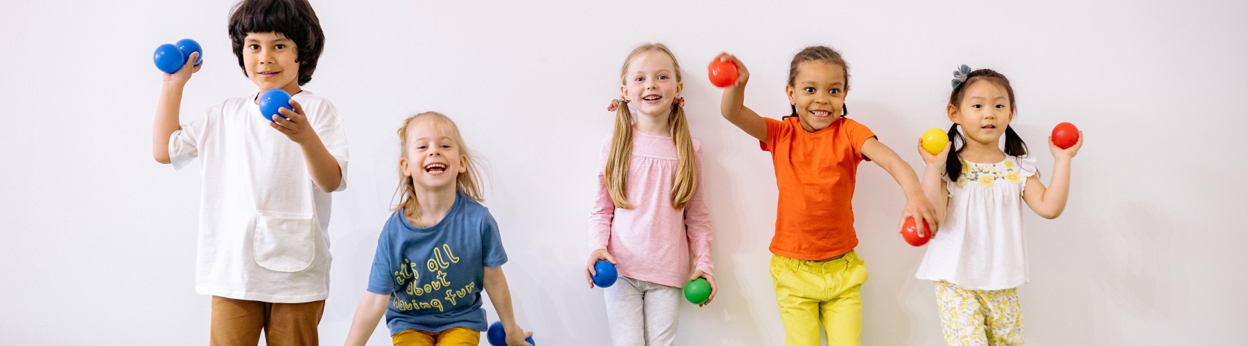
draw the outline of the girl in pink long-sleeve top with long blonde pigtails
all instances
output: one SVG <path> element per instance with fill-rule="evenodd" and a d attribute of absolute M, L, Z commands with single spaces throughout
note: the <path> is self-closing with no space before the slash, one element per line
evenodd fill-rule
<path fill-rule="evenodd" d="M 620 100 L 608 107 L 615 111 L 615 129 L 603 142 L 598 166 L 585 280 L 594 286 L 590 276 L 599 260 L 617 265 L 620 278 L 605 290 L 617 346 L 673 345 L 681 288 L 705 278 L 711 294 L 701 306 L 716 292 L 701 147 L 689 136 L 680 65 L 666 46 L 634 49 L 620 80 Z"/>

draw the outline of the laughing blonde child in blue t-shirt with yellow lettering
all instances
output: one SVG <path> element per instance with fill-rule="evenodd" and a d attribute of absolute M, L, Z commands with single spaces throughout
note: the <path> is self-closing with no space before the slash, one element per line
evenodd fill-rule
<path fill-rule="evenodd" d="M 364 345 L 382 314 L 394 345 L 477 345 L 485 330 L 482 288 L 507 331 L 524 342 L 512 315 L 512 294 L 498 224 L 480 205 L 480 174 L 459 128 L 424 112 L 398 129 L 403 202 L 377 240 L 368 291 L 356 307 L 347 345 Z"/>

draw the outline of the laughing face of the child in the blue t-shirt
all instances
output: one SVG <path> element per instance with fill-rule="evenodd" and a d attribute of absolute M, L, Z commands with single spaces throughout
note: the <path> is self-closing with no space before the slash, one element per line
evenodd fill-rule
<path fill-rule="evenodd" d="M 446 119 L 418 117 L 407 128 L 403 157 L 398 164 L 406 178 L 422 190 L 454 190 L 459 174 L 468 168 L 462 142 L 452 137 Z"/>

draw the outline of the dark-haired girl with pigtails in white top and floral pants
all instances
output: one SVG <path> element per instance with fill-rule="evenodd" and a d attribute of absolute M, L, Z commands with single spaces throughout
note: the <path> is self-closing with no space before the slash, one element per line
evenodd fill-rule
<path fill-rule="evenodd" d="M 1027 283 L 1027 249 L 1021 202 L 1046 219 L 1062 214 L 1071 159 L 1083 146 L 1083 133 L 1066 149 L 1050 138 L 1053 179 L 1046 189 L 1027 144 L 1010 128 L 1016 110 L 1010 80 L 966 65 L 955 76 L 946 107 L 953 121 L 950 144 L 936 156 L 922 146 L 919 149 L 926 162 L 924 190 L 943 222 L 915 278 L 936 283 L 948 345 L 1022 345 L 1017 288 Z M 1001 134 L 1006 136 L 1003 152 Z M 953 141 L 962 143 L 956 156 L 948 154 Z"/>

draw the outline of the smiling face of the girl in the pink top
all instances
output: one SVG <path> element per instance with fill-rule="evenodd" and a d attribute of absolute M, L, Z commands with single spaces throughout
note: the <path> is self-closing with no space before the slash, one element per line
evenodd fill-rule
<path fill-rule="evenodd" d="M 641 116 L 655 117 L 671 113 L 671 102 L 680 97 L 684 83 L 671 56 L 649 50 L 629 60 L 620 93 Z"/>

